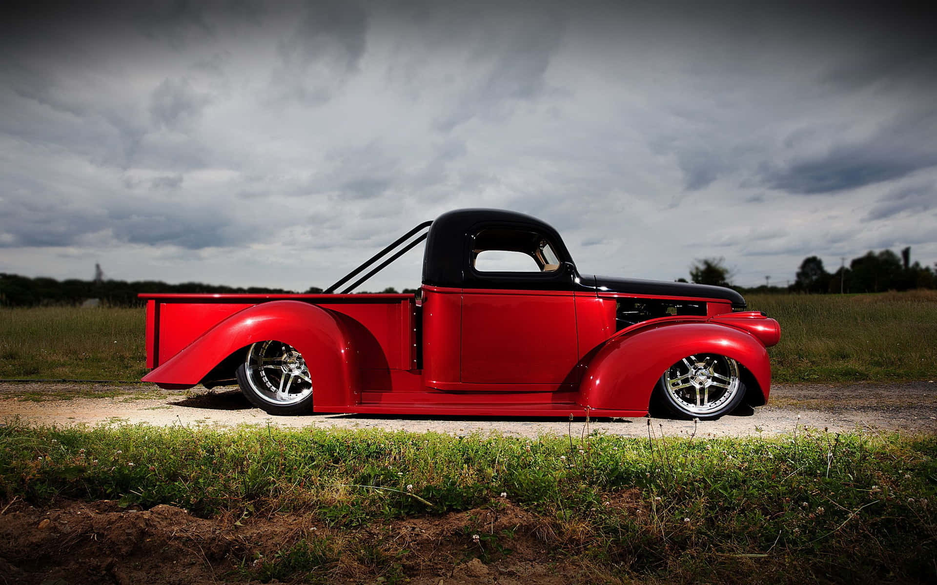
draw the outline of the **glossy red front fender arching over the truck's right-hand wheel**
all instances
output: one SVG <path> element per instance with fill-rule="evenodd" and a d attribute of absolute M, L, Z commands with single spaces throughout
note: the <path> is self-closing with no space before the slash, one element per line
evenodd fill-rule
<path fill-rule="evenodd" d="M 706 322 L 661 323 L 619 335 L 589 361 L 580 404 L 647 412 L 651 393 L 667 368 L 693 354 L 735 359 L 754 376 L 765 400 L 771 388 L 767 349 L 742 329 Z"/>

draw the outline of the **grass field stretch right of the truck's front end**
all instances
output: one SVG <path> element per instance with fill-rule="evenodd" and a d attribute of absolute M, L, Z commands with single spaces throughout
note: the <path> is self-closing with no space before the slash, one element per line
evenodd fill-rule
<path fill-rule="evenodd" d="M 751 295 L 781 323 L 771 348 L 778 382 L 920 380 L 937 375 L 937 291 Z"/>

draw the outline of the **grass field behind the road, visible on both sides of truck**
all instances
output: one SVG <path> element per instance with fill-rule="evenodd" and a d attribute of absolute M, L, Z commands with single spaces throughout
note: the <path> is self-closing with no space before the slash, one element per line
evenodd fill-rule
<path fill-rule="evenodd" d="M 776 381 L 937 375 L 937 291 L 747 300 L 781 322 Z M 0 309 L 0 378 L 139 379 L 143 328 L 142 309 Z"/>

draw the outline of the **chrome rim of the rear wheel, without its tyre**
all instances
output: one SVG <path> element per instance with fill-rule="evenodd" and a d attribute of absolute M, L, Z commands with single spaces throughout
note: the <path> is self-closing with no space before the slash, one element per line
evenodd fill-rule
<path fill-rule="evenodd" d="M 271 404 L 287 406 L 312 394 L 305 359 L 289 344 L 271 341 L 251 345 L 245 359 L 245 374 L 254 395 Z"/>

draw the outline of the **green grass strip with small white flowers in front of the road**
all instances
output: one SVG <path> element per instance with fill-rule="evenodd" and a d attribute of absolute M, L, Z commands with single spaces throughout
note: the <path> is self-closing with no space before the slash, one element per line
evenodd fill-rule
<path fill-rule="evenodd" d="M 559 558 L 619 578 L 732 582 L 760 567 L 762 582 L 908 582 L 934 577 L 935 457 L 937 437 L 803 430 L 773 439 L 528 440 L 12 421 L 0 427 L 0 499 L 311 515 L 319 535 L 284 541 L 262 563 L 245 559 L 243 570 L 264 580 L 309 578 L 346 555 L 406 573 L 419 560 L 383 546 L 394 534 L 376 544 L 380 526 L 510 502 L 534 519 L 489 533 L 483 514 L 469 515 L 456 538 L 464 554 L 501 558 L 526 532 Z M 483 537 L 473 543 L 472 534 Z"/>

